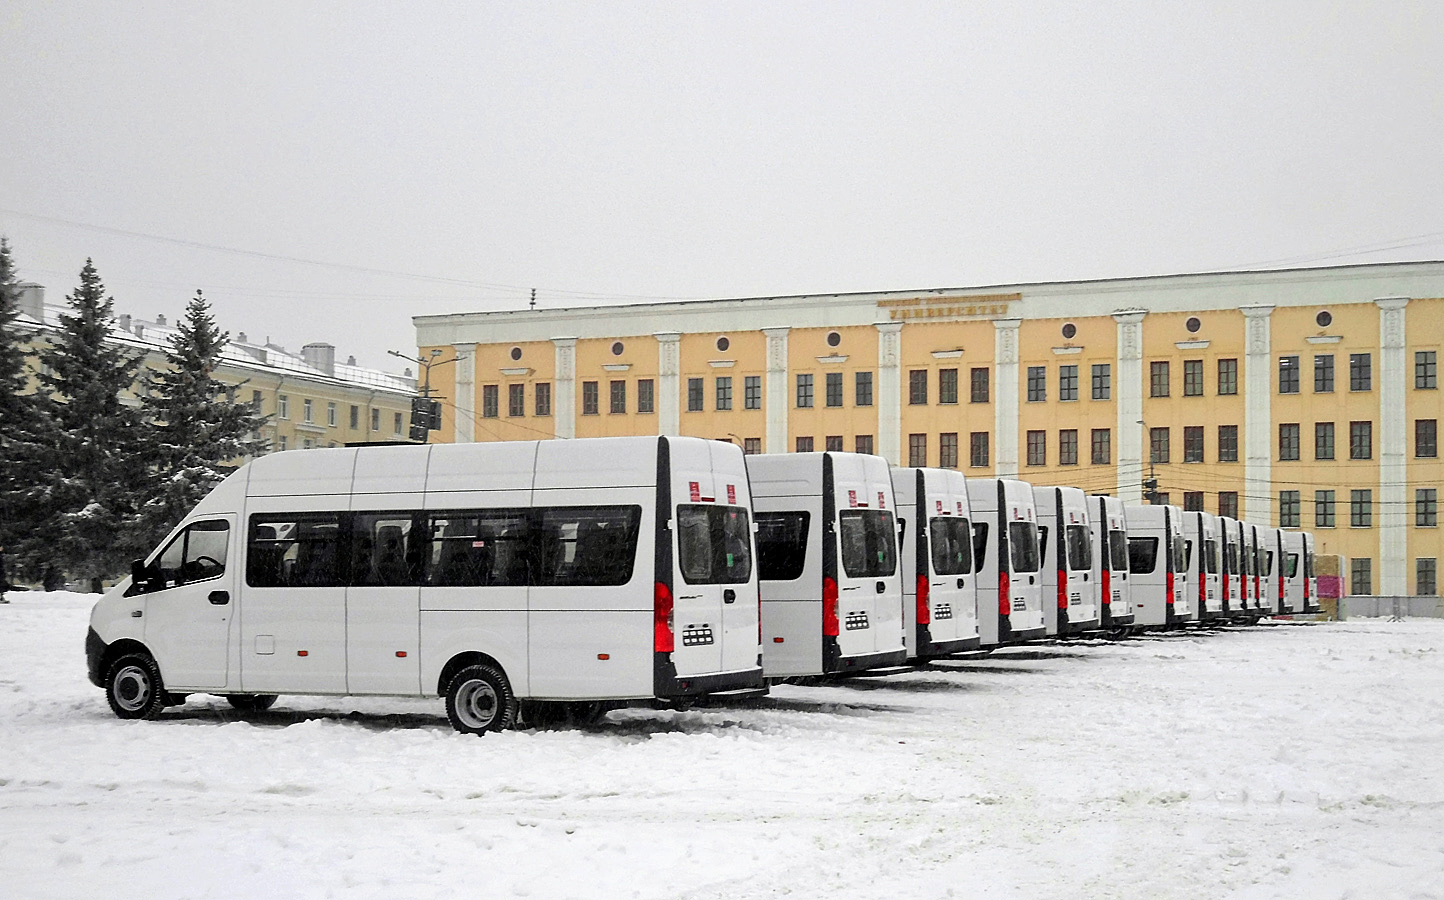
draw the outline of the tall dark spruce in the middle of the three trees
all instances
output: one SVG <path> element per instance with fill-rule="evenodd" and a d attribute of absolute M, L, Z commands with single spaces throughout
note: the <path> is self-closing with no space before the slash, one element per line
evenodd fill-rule
<path fill-rule="evenodd" d="M 27 561 L 48 558 L 71 576 L 118 575 L 130 559 L 123 526 L 136 514 L 147 435 L 140 410 L 121 394 L 142 355 L 110 341 L 114 299 L 91 260 L 66 298 L 69 312 L 40 350 L 40 386 L 53 455 L 43 480 L 45 517 L 22 543 Z"/>

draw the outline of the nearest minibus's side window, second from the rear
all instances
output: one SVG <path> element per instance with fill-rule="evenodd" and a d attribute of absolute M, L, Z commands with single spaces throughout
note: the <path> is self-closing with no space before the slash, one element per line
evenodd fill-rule
<path fill-rule="evenodd" d="M 530 529 L 524 510 L 432 513 L 426 579 L 432 587 L 524 587 L 529 581 Z"/>

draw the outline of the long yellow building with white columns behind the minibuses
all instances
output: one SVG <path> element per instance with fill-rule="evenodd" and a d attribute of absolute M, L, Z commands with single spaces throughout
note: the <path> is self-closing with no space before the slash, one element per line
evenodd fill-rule
<path fill-rule="evenodd" d="M 417 316 L 443 441 L 697 435 L 1304 527 L 1435 594 L 1444 263 Z"/>

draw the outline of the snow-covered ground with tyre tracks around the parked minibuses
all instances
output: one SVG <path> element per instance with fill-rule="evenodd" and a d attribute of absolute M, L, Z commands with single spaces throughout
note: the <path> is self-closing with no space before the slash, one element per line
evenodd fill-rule
<path fill-rule="evenodd" d="M 1444 897 L 1444 623 L 1045 646 L 588 730 L 123 722 L 0 605 L 0 896 Z"/>

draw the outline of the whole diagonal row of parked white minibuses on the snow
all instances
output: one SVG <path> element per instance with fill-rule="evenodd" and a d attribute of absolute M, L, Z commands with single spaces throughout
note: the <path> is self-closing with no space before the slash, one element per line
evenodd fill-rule
<path fill-rule="evenodd" d="M 243 465 L 85 649 L 121 718 L 442 696 L 482 734 L 1315 597 L 1307 533 L 1076 487 L 700 438 L 377 445 Z"/>

